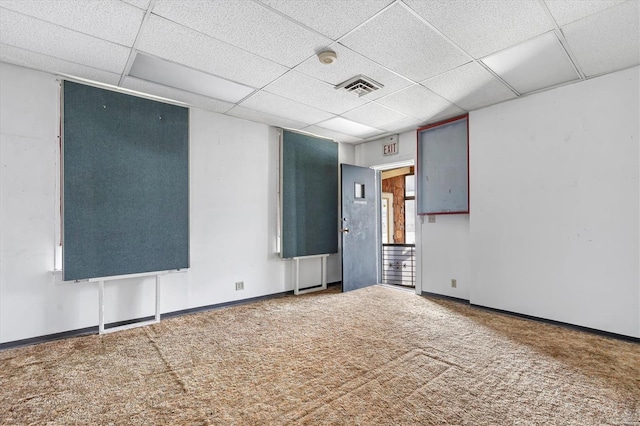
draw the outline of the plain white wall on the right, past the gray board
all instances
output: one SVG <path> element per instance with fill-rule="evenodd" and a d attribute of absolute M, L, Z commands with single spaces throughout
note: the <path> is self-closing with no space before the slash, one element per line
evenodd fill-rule
<path fill-rule="evenodd" d="M 471 113 L 472 303 L 640 336 L 638 74 Z"/>

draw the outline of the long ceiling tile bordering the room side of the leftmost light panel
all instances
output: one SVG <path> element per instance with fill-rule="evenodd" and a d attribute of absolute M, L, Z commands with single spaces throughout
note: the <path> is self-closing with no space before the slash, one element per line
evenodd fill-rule
<path fill-rule="evenodd" d="M 252 87 L 262 87 L 287 71 L 282 65 L 155 15 L 149 16 L 137 49 Z"/>

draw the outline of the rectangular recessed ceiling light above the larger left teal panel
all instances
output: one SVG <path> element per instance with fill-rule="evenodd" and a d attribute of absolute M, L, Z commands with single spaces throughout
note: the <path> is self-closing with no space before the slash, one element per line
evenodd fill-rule
<path fill-rule="evenodd" d="M 129 75 L 233 103 L 241 101 L 255 90 L 253 87 L 142 53 L 136 55 Z"/>

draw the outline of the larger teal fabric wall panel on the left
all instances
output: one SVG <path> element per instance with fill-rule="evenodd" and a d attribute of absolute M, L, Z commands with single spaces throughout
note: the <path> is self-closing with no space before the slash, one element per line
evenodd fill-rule
<path fill-rule="evenodd" d="M 189 266 L 189 111 L 64 82 L 65 280 Z"/>

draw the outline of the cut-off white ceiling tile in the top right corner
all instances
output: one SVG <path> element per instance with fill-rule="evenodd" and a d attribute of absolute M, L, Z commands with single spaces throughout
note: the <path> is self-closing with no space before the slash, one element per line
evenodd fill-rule
<path fill-rule="evenodd" d="M 640 63 L 639 8 L 640 2 L 630 0 L 562 27 L 587 76 Z"/>

